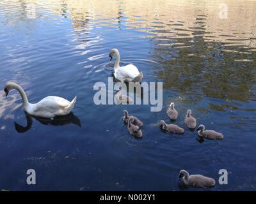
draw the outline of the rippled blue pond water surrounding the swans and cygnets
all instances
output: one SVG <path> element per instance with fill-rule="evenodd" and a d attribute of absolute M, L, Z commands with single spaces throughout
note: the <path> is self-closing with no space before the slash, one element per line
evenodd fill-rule
<path fill-rule="evenodd" d="M 31 102 L 77 95 L 74 115 L 51 122 L 26 118 L 20 95 L 1 92 L 0 189 L 179 191 L 180 169 L 218 181 L 225 168 L 228 185 L 212 190 L 255 190 L 255 9 L 256 1 L 239 0 L 0 1 L 1 87 L 17 82 Z M 112 76 L 114 47 L 144 82 L 163 82 L 161 112 L 94 105 L 93 85 Z M 171 101 L 180 114 L 175 124 L 185 128 L 191 108 L 224 140 L 159 131 L 160 119 L 170 122 Z M 124 108 L 143 120 L 142 140 L 128 135 Z M 35 186 L 26 184 L 29 168 Z"/>

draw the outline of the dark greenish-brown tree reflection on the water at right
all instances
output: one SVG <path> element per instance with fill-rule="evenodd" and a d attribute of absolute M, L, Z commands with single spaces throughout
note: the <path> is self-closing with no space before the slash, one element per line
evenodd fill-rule
<path fill-rule="evenodd" d="M 180 39 L 179 42 L 189 45 L 187 39 Z M 216 47 L 214 43 L 211 45 Z M 164 88 L 187 94 L 202 92 L 204 96 L 228 101 L 248 101 L 255 98 L 255 93 L 252 92 L 256 82 L 256 70 L 253 69 L 255 62 L 235 62 L 234 54 L 207 47 L 209 42 L 198 36 L 193 47 L 182 48 L 175 59 L 170 56 L 170 53 L 175 52 L 172 47 L 157 47 L 154 56 L 164 58 L 161 64 L 166 67 L 158 70 L 158 77 L 163 80 Z"/>

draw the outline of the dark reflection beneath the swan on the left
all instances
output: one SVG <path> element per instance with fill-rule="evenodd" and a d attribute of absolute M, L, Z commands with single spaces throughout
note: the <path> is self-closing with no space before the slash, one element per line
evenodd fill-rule
<path fill-rule="evenodd" d="M 41 124 L 44 124 L 45 126 L 65 126 L 68 124 L 75 124 L 76 126 L 79 126 L 81 128 L 81 121 L 72 112 L 70 112 L 68 115 L 54 117 L 54 119 L 35 117 L 32 115 L 29 115 L 26 112 L 24 113 L 26 115 L 26 120 L 27 120 L 26 126 L 21 126 L 20 124 L 17 124 L 17 122 L 14 122 L 15 129 L 18 133 L 26 133 L 26 131 L 31 129 L 33 124 L 33 119 L 38 120 Z"/>

